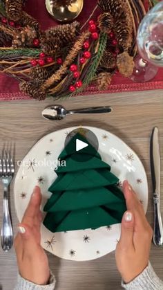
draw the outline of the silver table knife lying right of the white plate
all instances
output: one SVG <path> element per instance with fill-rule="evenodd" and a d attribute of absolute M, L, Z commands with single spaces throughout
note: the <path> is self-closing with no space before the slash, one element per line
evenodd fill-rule
<path fill-rule="evenodd" d="M 162 216 L 160 208 L 160 147 L 158 128 L 154 127 L 151 134 L 150 146 L 151 159 L 151 176 L 153 183 L 153 203 L 154 203 L 154 226 L 153 226 L 153 243 L 155 246 L 163 244 Z"/>

